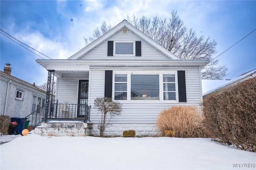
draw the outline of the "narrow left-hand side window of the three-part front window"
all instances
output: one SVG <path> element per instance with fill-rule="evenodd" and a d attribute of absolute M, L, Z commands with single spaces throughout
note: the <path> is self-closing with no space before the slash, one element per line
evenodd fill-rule
<path fill-rule="evenodd" d="M 127 100 L 127 75 L 115 75 L 115 100 Z"/>

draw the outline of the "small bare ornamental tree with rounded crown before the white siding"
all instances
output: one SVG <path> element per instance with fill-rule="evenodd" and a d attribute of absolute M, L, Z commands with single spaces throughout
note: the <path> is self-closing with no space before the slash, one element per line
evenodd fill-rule
<path fill-rule="evenodd" d="M 110 120 L 122 112 L 122 104 L 108 97 L 97 97 L 94 100 L 94 108 L 97 108 L 101 113 L 98 129 L 100 130 L 100 137 L 104 137 L 104 131 Z"/>

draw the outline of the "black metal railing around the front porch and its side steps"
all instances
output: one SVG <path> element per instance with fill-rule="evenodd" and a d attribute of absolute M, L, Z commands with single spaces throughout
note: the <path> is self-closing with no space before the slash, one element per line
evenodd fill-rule
<path fill-rule="evenodd" d="M 46 112 L 47 108 L 48 112 Z M 86 123 L 90 121 L 90 108 L 85 104 L 73 104 L 70 102 L 58 103 L 57 101 L 56 103 L 45 104 L 25 117 L 26 123 L 24 123 L 24 127 L 36 127 L 43 121 L 47 122 L 48 119 L 82 119 Z"/>

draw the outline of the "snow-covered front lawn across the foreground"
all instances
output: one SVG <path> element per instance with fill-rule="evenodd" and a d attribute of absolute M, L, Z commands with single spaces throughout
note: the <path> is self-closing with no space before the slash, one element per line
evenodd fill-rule
<path fill-rule="evenodd" d="M 256 169 L 256 153 L 207 138 L 43 137 L 32 132 L 2 144 L 0 154 L 1 170 Z"/>

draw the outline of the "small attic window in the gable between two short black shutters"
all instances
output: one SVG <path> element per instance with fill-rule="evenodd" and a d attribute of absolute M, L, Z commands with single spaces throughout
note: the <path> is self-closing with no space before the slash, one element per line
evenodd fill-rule
<path fill-rule="evenodd" d="M 135 55 L 135 42 L 114 42 L 114 55 Z"/>

